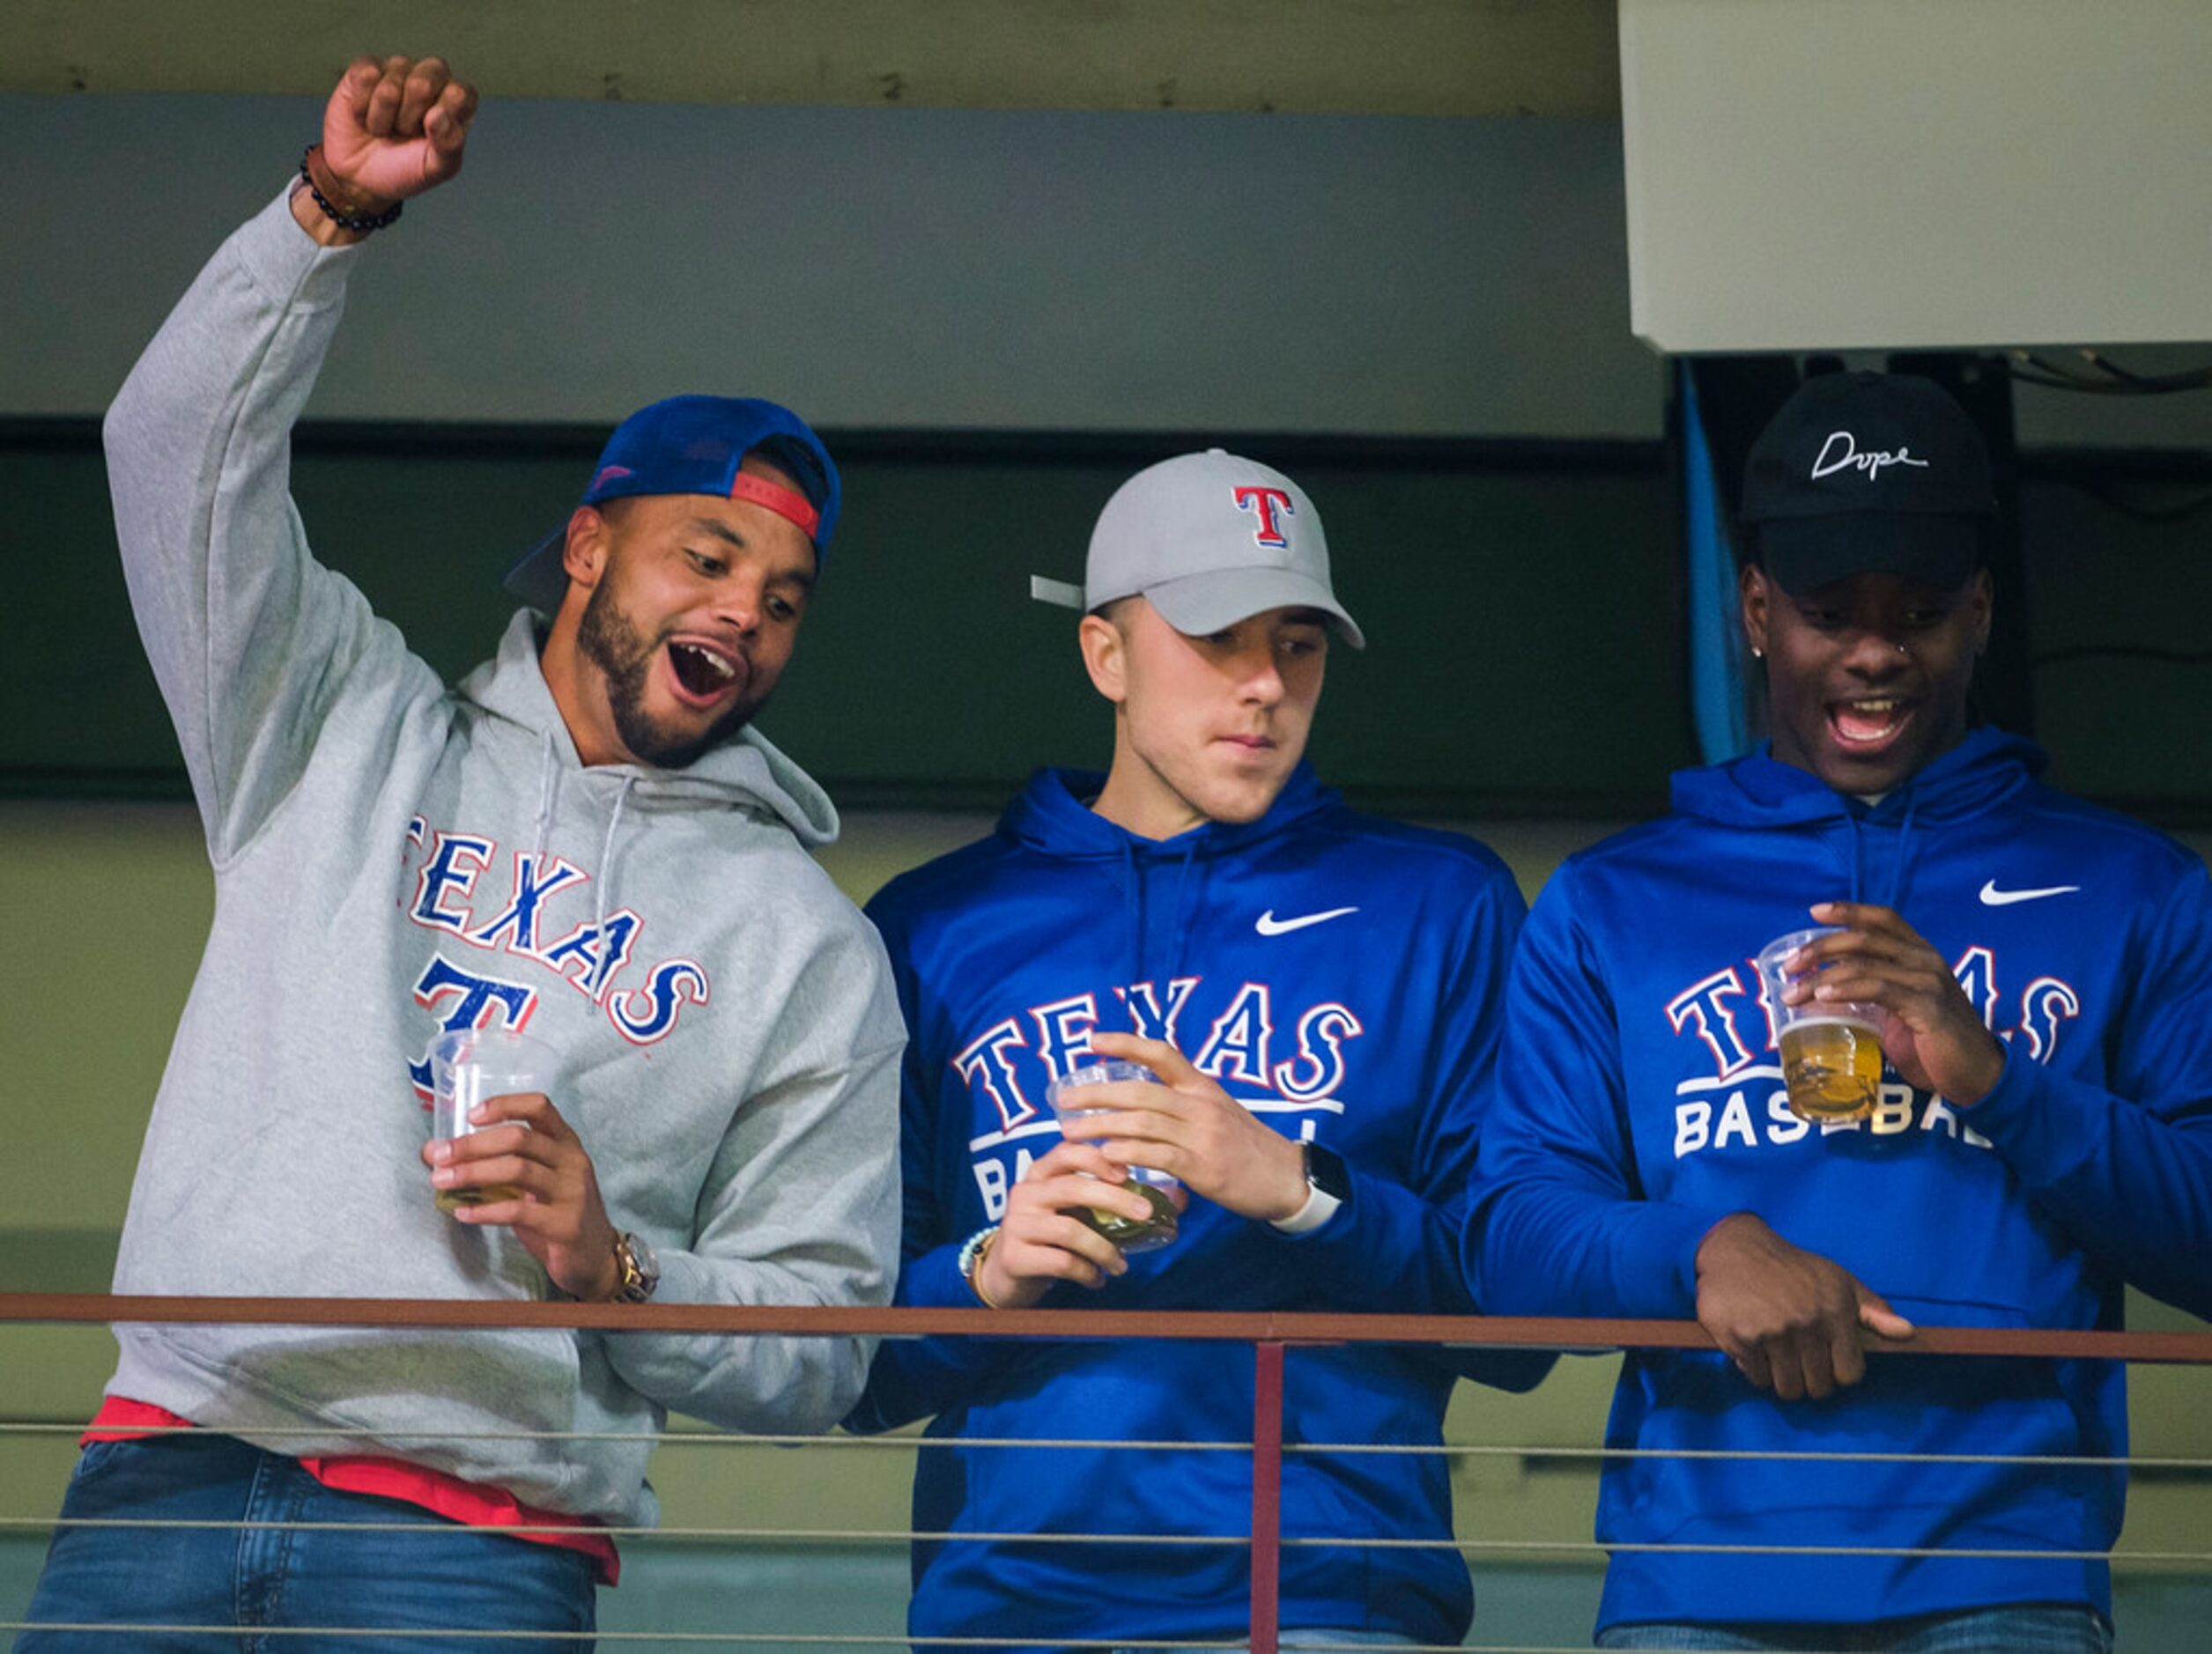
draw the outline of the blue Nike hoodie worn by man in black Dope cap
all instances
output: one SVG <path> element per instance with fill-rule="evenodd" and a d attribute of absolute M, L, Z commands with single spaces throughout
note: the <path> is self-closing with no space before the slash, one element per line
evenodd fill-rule
<path fill-rule="evenodd" d="M 1692 1318 L 1701 1238 L 1754 1212 L 1924 1327 L 2119 1327 L 2124 1283 L 2212 1313 L 2205 865 L 2039 770 L 1978 730 L 1865 805 L 1761 752 L 1573 856 L 1513 966 L 1467 1229 L 1484 1307 Z M 2002 1037 L 1973 1108 L 1889 1070 L 1867 1121 L 1787 1110 L 1752 955 L 1836 898 L 1896 907 Z M 1630 1353 L 1606 1442 L 1652 1457 L 1604 1473 L 1601 1625 L 2110 1612 L 2124 1473 L 2039 1459 L 2126 1453 L 2117 1364 L 1876 1355 L 1778 1402 L 1717 1351 Z M 1745 1451 L 1880 1457 L 1666 1457 Z"/>

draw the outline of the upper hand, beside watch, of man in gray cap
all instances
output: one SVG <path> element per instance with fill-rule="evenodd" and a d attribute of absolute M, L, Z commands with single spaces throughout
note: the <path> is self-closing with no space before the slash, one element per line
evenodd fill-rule
<path fill-rule="evenodd" d="M 1298 1145 L 1256 1121 L 1166 1039 L 1093 1033 L 1091 1048 L 1099 1057 L 1144 1064 L 1159 1084 L 1099 1086 L 1099 1101 L 1110 1112 L 1082 1121 L 1086 1141 L 1099 1141 L 1121 1165 L 1179 1176 L 1192 1194 L 1243 1218 L 1287 1218 L 1305 1205 Z"/>

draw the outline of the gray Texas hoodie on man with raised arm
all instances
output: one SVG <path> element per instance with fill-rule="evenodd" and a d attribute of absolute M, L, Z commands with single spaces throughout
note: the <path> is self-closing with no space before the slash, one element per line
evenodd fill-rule
<path fill-rule="evenodd" d="M 106 420 L 131 601 L 217 873 L 115 1289 L 546 1296 L 511 1232 L 431 1205 L 418 1156 L 431 1037 L 529 1024 L 564 1057 L 553 1103 L 608 1216 L 659 1252 L 661 1300 L 887 1302 L 902 1030 L 876 933 L 805 851 L 836 836 L 830 800 L 752 732 L 681 772 L 586 770 L 529 615 L 447 688 L 310 557 L 290 429 L 358 259 L 279 197 Z M 852 1338 L 467 1329 L 117 1342 L 111 1395 L 617 1524 L 655 1515 L 664 1409 L 827 1428 L 869 1358 Z"/>

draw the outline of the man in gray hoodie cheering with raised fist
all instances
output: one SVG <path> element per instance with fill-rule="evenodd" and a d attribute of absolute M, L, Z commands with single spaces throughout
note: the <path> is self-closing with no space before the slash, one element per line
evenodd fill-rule
<path fill-rule="evenodd" d="M 356 243 L 460 170 L 473 111 L 436 57 L 352 64 L 299 181 L 217 252 L 106 420 L 131 601 L 217 873 L 115 1287 L 883 1305 L 898 1006 L 807 856 L 830 800 L 748 727 L 834 528 L 821 442 L 768 402 L 635 414 L 511 575 L 544 621 L 518 613 L 456 688 L 312 559 L 292 509 L 290 427 Z M 524 1026 L 560 1077 L 429 1143 L 431 1041 Z M 434 1205 L 491 1185 L 511 1194 Z M 604 1528 L 655 1517 L 668 1409 L 827 1428 L 869 1358 L 858 1338 L 429 1327 L 117 1342 L 33 1623 L 436 1647 L 577 1647 L 617 1572 Z"/>

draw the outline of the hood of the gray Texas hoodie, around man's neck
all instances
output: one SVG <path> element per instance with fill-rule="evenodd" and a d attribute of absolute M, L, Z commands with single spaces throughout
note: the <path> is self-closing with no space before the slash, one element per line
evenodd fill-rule
<path fill-rule="evenodd" d="M 814 778 L 754 727 L 743 727 L 684 770 L 659 765 L 593 765 L 584 767 L 568 725 L 553 703 L 544 670 L 538 666 L 538 630 L 529 610 L 518 610 L 500 637 L 498 655 L 469 672 L 456 688 L 460 701 L 482 708 L 495 719 L 515 723 L 540 736 L 549 765 L 606 776 L 619 783 L 630 809 L 745 809 L 772 816 L 790 827 L 807 849 L 834 845 L 838 836 L 836 807 Z M 555 776 L 546 776 L 549 787 Z"/>

